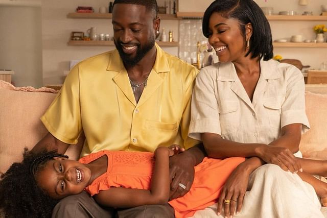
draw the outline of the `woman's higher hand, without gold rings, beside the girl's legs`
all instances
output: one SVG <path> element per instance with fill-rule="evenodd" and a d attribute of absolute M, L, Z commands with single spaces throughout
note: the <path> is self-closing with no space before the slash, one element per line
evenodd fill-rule
<path fill-rule="evenodd" d="M 300 162 L 288 148 L 268 145 L 260 147 L 258 153 L 259 157 L 266 163 L 276 164 L 284 171 L 292 173 L 302 172 Z"/>

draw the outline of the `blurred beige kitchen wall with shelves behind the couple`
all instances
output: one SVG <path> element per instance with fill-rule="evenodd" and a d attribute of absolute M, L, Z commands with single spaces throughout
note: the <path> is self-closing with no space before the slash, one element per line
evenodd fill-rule
<path fill-rule="evenodd" d="M 114 49 L 113 43 L 99 45 L 74 45 L 72 32 L 84 32 L 96 27 L 97 33 L 109 34 L 112 37 L 111 19 L 73 18 L 69 13 L 75 12 L 78 6 L 93 7 L 99 13 L 100 7 L 108 12 L 108 0 L 0 0 L 0 70 L 11 69 L 15 72 L 12 81 L 16 86 L 40 87 L 48 84 L 61 84 L 71 67 L 71 61 Z M 165 6 L 165 0 L 157 0 L 159 6 Z M 201 3 L 200 3 L 201 2 Z M 197 41 L 206 44 L 202 36 L 201 13 L 211 0 L 179 0 L 178 16 L 162 15 L 160 32 L 165 28 L 167 40 L 169 31 L 175 42 L 159 42 L 162 48 L 188 62 L 197 60 Z M 272 7 L 272 14 L 280 11 L 312 12 L 314 19 L 290 20 L 269 19 L 273 40 L 287 39 L 293 35 L 302 35 L 302 41 L 316 38 L 315 25 L 326 25 L 327 16 L 317 17 L 322 12 L 321 5 L 326 0 L 255 0 L 260 7 Z M 307 5 L 299 5 L 307 2 Z M 193 12 L 193 13 L 186 13 Z M 187 19 L 182 19 L 184 17 Z M 310 16 L 310 15 L 308 15 Z M 173 18 L 172 18 L 173 17 Z M 197 19 L 194 19 L 197 18 Z M 327 35 L 325 33 L 325 41 Z M 104 45 L 103 45 L 104 44 Z M 201 51 L 204 47 L 201 47 Z M 327 61 L 327 42 L 324 43 L 287 43 L 280 42 L 274 46 L 274 55 L 284 59 L 298 59 L 311 69 L 319 69 Z M 201 59 L 205 54 L 201 53 Z M 307 68 L 308 69 L 308 68 Z"/>

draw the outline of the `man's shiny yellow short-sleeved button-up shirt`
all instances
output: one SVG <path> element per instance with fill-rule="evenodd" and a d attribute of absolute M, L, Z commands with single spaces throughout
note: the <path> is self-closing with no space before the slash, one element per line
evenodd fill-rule
<path fill-rule="evenodd" d="M 59 140 L 86 136 L 81 156 L 100 150 L 153 152 L 158 146 L 199 143 L 188 137 L 198 70 L 156 44 L 147 86 L 136 104 L 127 71 L 113 50 L 77 64 L 41 120 Z"/>

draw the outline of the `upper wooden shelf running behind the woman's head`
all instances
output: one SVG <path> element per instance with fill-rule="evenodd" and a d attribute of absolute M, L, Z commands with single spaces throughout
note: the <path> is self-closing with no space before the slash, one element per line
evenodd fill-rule
<path fill-rule="evenodd" d="M 178 18 L 196 18 L 201 19 L 203 17 L 203 12 L 177 12 Z M 299 20 L 299 21 L 310 21 L 310 20 L 327 20 L 327 16 L 321 15 L 269 15 L 268 20 Z"/>

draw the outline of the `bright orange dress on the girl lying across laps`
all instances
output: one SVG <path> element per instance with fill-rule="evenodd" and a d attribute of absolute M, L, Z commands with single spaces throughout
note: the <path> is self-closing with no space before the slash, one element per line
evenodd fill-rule
<path fill-rule="evenodd" d="M 100 151 L 79 161 L 89 163 L 103 155 L 108 157 L 108 169 L 85 188 L 91 196 L 110 187 L 150 189 L 154 168 L 153 153 Z M 244 160 L 238 157 L 223 160 L 205 157 L 195 166 L 195 178 L 190 191 L 183 197 L 168 202 L 175 210 L 175 217 L 190 217 L 197 210 L 216 203 L 226 179 Z"/>

